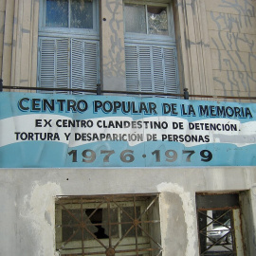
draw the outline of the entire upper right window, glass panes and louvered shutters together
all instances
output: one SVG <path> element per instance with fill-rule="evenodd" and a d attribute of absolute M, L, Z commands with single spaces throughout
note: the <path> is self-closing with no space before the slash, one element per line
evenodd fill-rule
<path fill-rule="evenodd" d="M 125 2 L 124 21 L 127 90 L 177 93 L 176 46 L 170 5 Z"/>

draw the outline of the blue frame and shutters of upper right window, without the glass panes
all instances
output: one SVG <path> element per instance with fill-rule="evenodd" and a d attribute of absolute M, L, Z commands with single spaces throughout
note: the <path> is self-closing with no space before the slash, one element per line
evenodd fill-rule
<path fill-rule="evenodd" d="M 124 20 L 126 4 L 143 5 L 146 12 L 146 5 L 166 7 L 170 31 L 169 35 L 125 32 L 124 22 L 126 90 L 137 93 L 148 91 L 153 93 L 179 93 L 172 3 L 170 0 L 156 0 L 155 2 L 125 0 L 123 3 Z M 135 47 L 137 49 L 133 49 Z M 158 50 L 161 51 L 162 57 L 155 55 Z M 167 55 L 170 59 L 165 58 Z M 161 73 L 157 73 L 158 68 L 162 70 Z M 146 74 L 147 72 L 150 74 Z"/>

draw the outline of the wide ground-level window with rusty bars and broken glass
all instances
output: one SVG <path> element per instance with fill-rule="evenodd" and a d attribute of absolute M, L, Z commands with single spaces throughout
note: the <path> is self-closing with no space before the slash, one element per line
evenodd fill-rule
<path fill-rule="evenodd" d="M 161 255 L 158 196 L 69 196 L 56 201 L 61 255 Z"/>

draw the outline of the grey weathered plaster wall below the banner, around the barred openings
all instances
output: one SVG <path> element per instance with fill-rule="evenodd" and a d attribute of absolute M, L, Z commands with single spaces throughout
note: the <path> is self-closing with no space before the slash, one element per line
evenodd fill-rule
<path fill-rule="evenodd" d="M 18 169 L 0 170 L 3 255 L 55 254 L 55 196 L 160 192 L 163 256 L 197 256 L 195 192 L 252 190 L 245 196 L 247 256 L 255 255 L 256 169 Z M 246 192 L 247 194 L 248 192 Z M 244 200 L 244 201 L 245 201 Z M 250 209 L 250 210 L 249 210 Z M 243 211 L 243 209 L 242 209 Z"/>

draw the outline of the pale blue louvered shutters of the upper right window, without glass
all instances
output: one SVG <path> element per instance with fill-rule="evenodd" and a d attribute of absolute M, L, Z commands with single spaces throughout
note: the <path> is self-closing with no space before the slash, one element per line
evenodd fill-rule
<path fill-rule="evenodd" d="M 126 87 L 134 92 L 177 92 L 177 64 L 172 46 L 125 46 Z"/>

